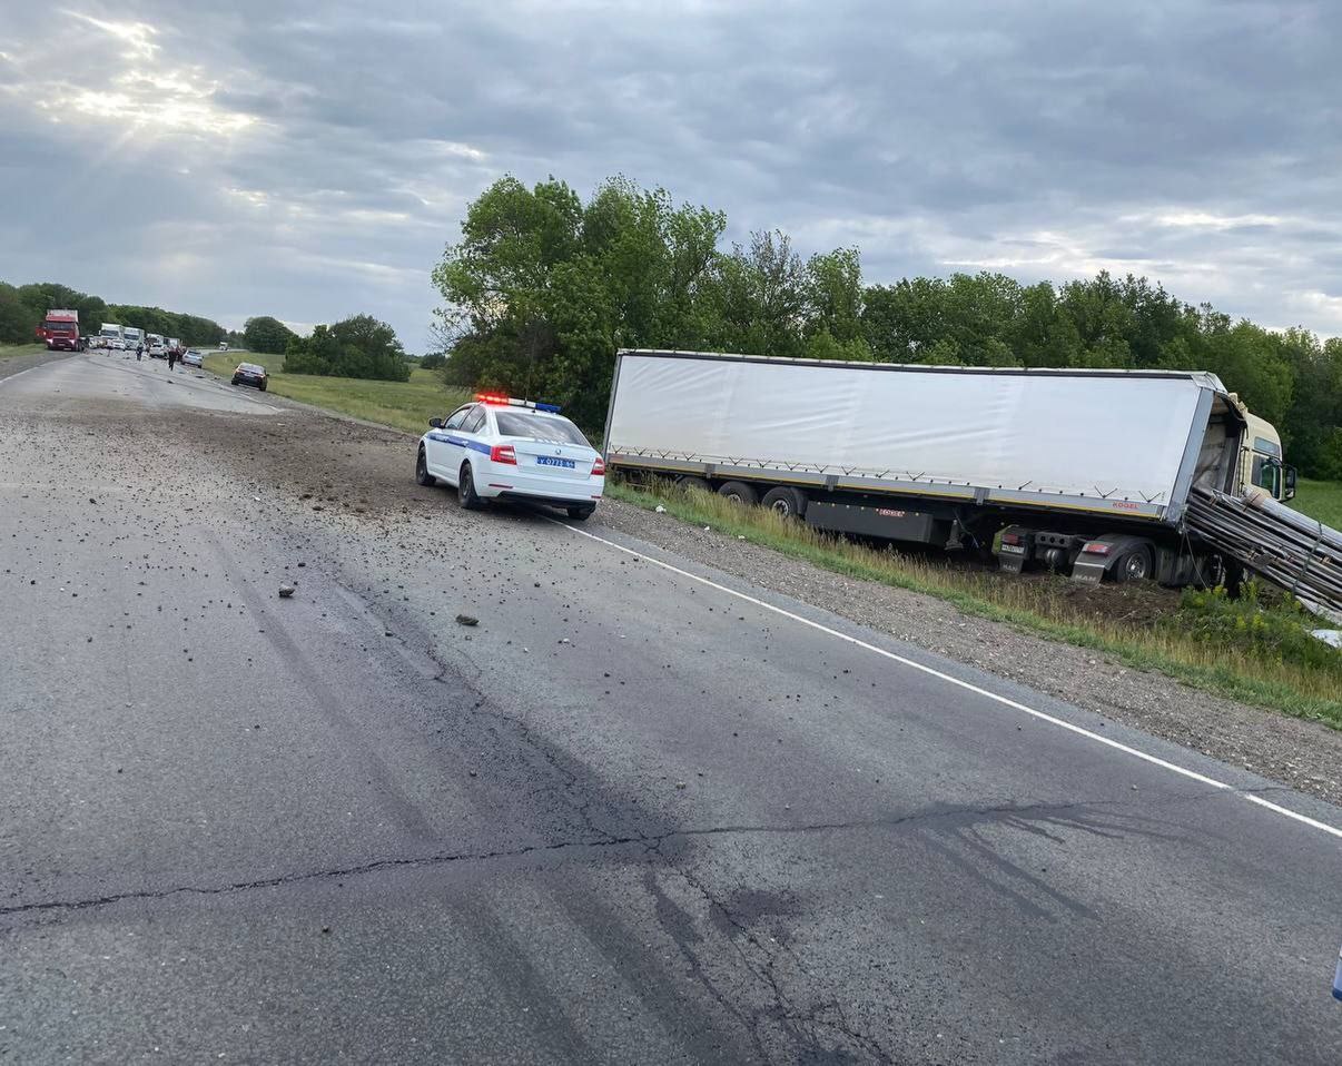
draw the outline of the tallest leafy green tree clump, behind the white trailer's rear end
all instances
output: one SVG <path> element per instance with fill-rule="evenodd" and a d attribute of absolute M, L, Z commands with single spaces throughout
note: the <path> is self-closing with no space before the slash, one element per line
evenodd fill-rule
<path fill-rule="evenodd" d="M 505 177 L 467 209 L 433 282 L 451 384 L 558 401 L 595 424 L 619 346 L 707 345 L 719 212 L 675 205 L 625 179 L 589 203 L 550 179 Z"/>

